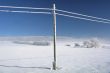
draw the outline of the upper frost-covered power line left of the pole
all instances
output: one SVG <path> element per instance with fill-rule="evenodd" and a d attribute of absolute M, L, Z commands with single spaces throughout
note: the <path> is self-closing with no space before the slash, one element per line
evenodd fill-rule
<path fill-rule="evenodd" d="M 34 8 L 34 7 L 16 7 L 16 6 L 0 6 L 0 8 L 17 8 L 17 9 L 38 9 L 38 10 L 52 10 L 51 8 Z"/>

